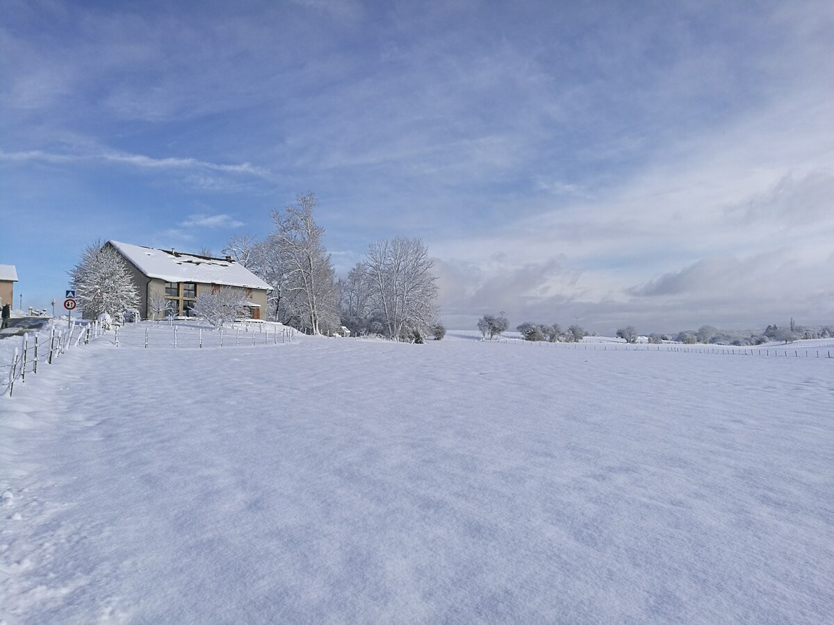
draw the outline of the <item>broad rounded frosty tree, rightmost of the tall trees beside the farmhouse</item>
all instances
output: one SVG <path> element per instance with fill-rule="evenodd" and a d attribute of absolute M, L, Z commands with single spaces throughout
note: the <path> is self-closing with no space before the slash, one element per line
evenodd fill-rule
<path fill-rule="evenodd" d="M 419 238 L 396 237 L 371 243 L 362 263 L 369 318 L 395 341 L 422 343 L 437 319 L 434 262 Z"/>

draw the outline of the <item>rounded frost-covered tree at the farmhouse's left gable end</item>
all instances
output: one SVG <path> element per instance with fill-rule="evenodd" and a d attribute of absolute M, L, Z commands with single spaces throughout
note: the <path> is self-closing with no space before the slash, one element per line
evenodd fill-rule
<path fill-rule="evenodd" d="M 121 319 L 124 311 L 138 308 L 139 292 L 128 263 L 112 245 L 102 246 L 101 241 L 88 245 L 68 273 L 83 317 L 108 313 Z"/>

